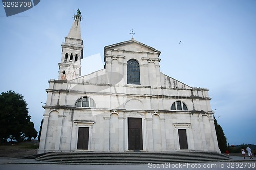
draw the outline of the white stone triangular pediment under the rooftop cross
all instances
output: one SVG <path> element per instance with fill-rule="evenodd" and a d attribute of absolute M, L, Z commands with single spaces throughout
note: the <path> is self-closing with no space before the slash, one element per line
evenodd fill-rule
<path fill-rule="evenodd" d="M 123 51 L 130 51 L 130 52 L 158 53 L 158 56 L 161 53 L 160 51 L 156 50 L 155 48 L 147 46 L 147 45 L 145 45 L 139 41 L 136 41 L 134 39 L 116 43 L 116 44 L 109 45 L 109 46 L 105 46 L 105 50 L 106 49 L 123 50 Z"/>

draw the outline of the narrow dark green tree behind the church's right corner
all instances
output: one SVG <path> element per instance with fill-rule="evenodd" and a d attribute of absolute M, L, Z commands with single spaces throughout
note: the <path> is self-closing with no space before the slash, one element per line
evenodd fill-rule
<path fill-rule="evenodd" d="M 221 152 L 226 152 L 227 149 L 227 138 L 223 132 L 221 126 L 217 123 L 217 120 L 214 117 L 214 126 L 216 131 L 216 136 L 218 140 L 219 149 Z"/>

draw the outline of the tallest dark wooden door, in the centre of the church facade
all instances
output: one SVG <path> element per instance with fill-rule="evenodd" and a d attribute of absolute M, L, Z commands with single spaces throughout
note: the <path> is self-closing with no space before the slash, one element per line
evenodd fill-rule
<path fill-rule="evenodd" d="M 143 150 L 141 118 L 128 118 L 128 149 Z"/>

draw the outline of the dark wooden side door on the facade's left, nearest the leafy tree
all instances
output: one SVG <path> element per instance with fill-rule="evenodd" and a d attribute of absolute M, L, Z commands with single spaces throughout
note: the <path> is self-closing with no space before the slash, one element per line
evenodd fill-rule
<path fill-rule="evenodd" d="M 77 149 L 88 150 L 89 128 L 79 127 Z"/>

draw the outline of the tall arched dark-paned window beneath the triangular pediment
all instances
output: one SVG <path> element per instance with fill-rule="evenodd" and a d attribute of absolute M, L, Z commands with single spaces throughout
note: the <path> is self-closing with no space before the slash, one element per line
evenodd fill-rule
<path fill-rule="evenodd" d="M 133 59 L 127 62 L 127 84 L 140 84 L 140 66 Z"/>

